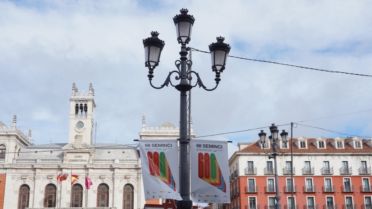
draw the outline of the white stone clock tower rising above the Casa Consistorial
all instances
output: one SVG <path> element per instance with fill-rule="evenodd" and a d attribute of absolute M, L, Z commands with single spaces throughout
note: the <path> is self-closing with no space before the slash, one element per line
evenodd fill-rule
<path fill-rule="evenodd" d="M 84 90 L 79 93 L 74 82 L 70 98 L 68 144 L 93 144 L 94 107 L 96 107 L 96 103 L 94 103 L 92 82 L 89 84 L 89 92 L 87 93 Z"/>

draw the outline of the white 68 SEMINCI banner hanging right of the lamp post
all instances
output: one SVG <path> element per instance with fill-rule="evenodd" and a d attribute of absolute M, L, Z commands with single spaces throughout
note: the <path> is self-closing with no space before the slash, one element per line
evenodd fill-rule
<path fill-rule="evenodd" d="M 227 141 L 190 141 L 191 200 L 230 203 Z"/>

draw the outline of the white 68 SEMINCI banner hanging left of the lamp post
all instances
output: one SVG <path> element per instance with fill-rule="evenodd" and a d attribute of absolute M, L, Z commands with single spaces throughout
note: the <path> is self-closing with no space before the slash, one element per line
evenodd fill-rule
<path fill-rule="evenodd" d="M 139 144 L 145 200 L 182 200 L 177 139 L 140 139 Z"/>

